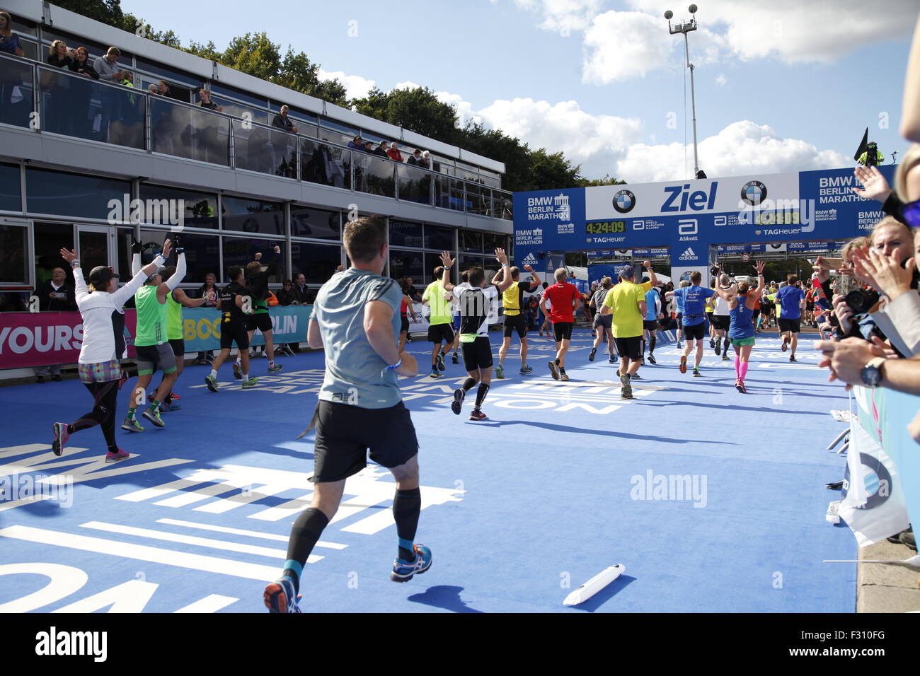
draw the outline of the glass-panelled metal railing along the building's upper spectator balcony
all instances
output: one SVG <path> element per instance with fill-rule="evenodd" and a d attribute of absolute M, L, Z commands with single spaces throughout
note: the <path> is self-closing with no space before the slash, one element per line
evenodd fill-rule
<path fill-rule="evenodd" d="M 512 220 L 507 190 L 6 54 L 0 124 Z"/>

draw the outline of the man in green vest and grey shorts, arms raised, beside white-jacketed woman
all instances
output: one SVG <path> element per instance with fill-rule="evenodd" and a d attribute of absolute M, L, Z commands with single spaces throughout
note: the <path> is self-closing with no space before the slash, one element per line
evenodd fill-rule
<path fill-rule="evenodd" d="M 174 235 L 174 240 L 178 235 Z M 132 270 L 141 267 L 141 245 L 137 242 L 132 246 L 134 257 Z M 167 296 L 178 287 L 179 282 L 185 277 L 185 249 L 177 246 L 178 262 L 176 273 L 163 281 L 162 275 L 156 273 L 147 279 L 147 282 L 134 294 L 134 306 L 137 308 L 137 327 L 134 336 L 134 351 L 137 354 L 137 386 L 134 388 L 128 415 L 121 423 L 122 430 L 132 432 L 144 431 L 134 415 L 137 407 L 144 404 L 144 392 L 158 368 L 163 372 L 163 382 L 156 390 L 153 404 L 144 411 L 147 418 L 156 427 L 166 425 L 160 418 L 160 406 L 176 383 L 176 355 L 167 338 Z"/>

